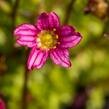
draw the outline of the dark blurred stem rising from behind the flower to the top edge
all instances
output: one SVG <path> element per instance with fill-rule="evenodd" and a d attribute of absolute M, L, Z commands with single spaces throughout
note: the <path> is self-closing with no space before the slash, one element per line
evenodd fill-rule
<path fill-rule="evenodd" d="M 71 12 L 72 12 L 72 9 L 73 9 L 73 5 L 75 3 L 76 0 L 70 0 L 67 8 L 66 8 L 66 12 L 65 12 L 65 20 L 64 20 L 64 24 L 67 24 L 69 19 L 70 19 L 70 16 L 71 16 Z"/>

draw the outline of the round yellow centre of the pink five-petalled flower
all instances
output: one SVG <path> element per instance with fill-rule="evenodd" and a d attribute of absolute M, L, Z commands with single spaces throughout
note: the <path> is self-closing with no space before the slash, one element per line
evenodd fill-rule
<path fill-rule="evenodd" d="M 51 32 L 43 30 L 38 34 L 37 37 L 38 47 L 45 50 L 56 48 L 57 39 L 58 35 L 54 34 L 53 31 Z"/>

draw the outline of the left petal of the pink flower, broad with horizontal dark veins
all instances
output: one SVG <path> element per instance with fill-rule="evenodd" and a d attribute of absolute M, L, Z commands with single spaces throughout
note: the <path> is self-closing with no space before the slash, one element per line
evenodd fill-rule
<path fill-rule="evenodd" d="M 31 24 L 22 24 L 14 31 L 14 35 L 17 36 L 17 43 L 28 47 L 36 45 L 35 36 L 37 33 L 38 29 Z"/>

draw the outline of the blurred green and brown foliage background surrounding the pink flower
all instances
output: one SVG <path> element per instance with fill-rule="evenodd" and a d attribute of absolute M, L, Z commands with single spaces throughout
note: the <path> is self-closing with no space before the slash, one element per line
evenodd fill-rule
<path fill-rule="evenodd" d="M 109 1 L 89 1 L 0 0 L 0 98 L 7 109 L 109 109 Z M 30 49 L 16 44 L 13 30 L 45 11 L 56 12 L 83 39 L 69 50 L 71 68 L 48 59 L 26 74 Z"/>

